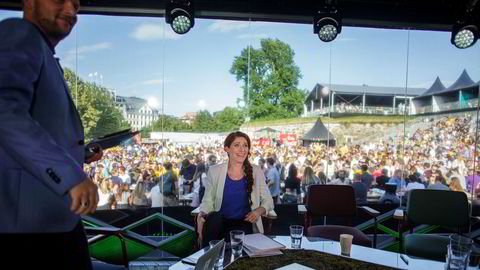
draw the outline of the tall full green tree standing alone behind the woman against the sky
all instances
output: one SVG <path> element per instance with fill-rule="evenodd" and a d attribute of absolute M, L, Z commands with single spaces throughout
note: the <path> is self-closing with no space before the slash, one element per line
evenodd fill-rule
<path fill-rule="evenodd" d="M 247 47 L 235 56 L 230 73 L 244 84 L 243 99 L 252 119 L 297 117 L 303 112 L 306 91 L 297 88 L 302 75 L 294 56 L 292 48 L 278 39 L 262 39 L 259 49 L 250 46 L 250 53 Z"/>

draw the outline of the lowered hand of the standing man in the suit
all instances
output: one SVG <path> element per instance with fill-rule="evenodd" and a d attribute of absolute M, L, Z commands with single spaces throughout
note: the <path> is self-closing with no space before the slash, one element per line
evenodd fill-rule
<path fill-rule="evenodd" d="M 72 198 L 70 210 L 79 215 L 91 214 L 97 209 L 97 185 L 90 178 L 85 178 L 80 184 L 70 189 Z"/>

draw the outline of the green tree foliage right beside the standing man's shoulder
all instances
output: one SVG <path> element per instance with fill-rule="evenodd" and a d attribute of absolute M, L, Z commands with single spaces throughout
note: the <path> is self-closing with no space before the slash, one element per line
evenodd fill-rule
<path fill-rule="evenodd" d="M 69 69 L 65 69 L 64 77 L 87 140 L 129 127 L 106 88 L 83 81 Z"/>

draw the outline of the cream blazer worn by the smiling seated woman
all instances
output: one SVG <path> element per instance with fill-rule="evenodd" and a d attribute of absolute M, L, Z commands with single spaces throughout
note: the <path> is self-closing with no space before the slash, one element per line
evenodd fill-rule
<path fill-rule="evenodd" d="M 265 183 L 265 175 L 262 169 L 257 165 L 253 167 L 253 189 L 250 198 L 252 199 L 251 209 L 262 206 L 267 211 L 273 210 L 273 199 L 270 191 Z M 207 178 L 205 179 L 205 195 L 200 204 L 200 211 L 210 213 L 212 211 L 220 211 L 223 201 L 223 190 L 225 188 L 225 179 L 227 177 L 228 163 L 222 163 L 211 166 L 208 169 Z M 259 218 L 253 232 L 263 233 L 262 219 Z"/>

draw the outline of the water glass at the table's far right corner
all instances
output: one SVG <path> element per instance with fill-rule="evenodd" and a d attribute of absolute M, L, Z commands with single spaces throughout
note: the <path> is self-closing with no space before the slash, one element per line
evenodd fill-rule
<path fill-rule="evenodd" d="M 452 234 L 447 252 L 447 270 L 464 270 L 468 266 L 472 240 L 467 237 Z"/>

